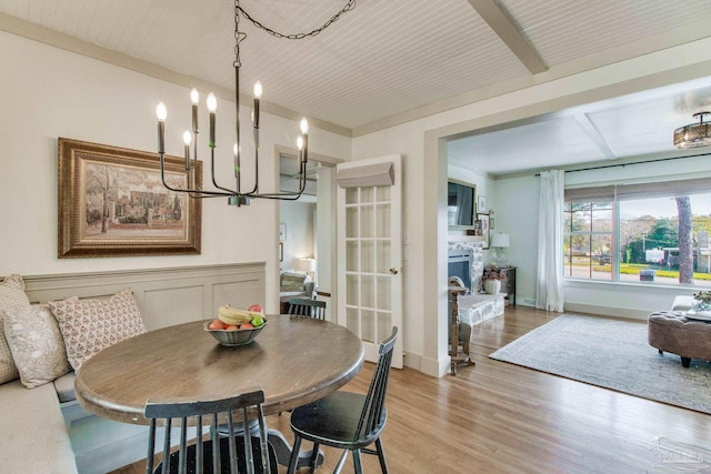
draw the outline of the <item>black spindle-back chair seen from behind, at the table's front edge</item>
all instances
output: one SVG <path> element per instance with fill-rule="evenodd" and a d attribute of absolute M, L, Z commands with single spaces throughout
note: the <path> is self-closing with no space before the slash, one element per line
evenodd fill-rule
<path fill-rule="evenodd" d="M 150 418 L 146 473 L 277 473 L 277 456 L 271 444 L 267 442 L 263 402 L 262 390 L 200 402 L 149 400 L 143 411 L 144 416 Z M 237 413 L 241 416 L 238 415 L 234 420 Z M 208 418 L 204 424 L 203 416 Z M 178 423 L 173 424 L 173 418 Z M 162 420 L 162 423 L 158 420 Z M 188 445 L 187 427 L 192 425 L 193 420 L 197 441 L 196 444 Z M 164 426 L 166 434 L 163 462 L 153 471 L 157 425 Z M 211 438 L 203 441 L 202 427 L 208 425 Z M 173 426 L 180 428 L 180 447 L 170 453 L 170 434 Z M 249 428 L 243 430 L 244 426 Z M 164 462 L 167 458 L 168 462 Z"/>

